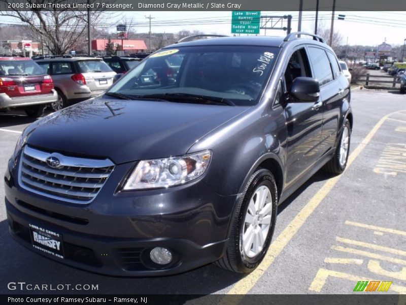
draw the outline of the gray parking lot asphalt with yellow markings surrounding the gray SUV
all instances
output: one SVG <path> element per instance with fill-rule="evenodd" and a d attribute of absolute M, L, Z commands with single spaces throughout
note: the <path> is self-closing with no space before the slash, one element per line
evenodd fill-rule
<path fill-rule="evenodd" d="M 59 264 L 19 246 L 0 205 L 0 292 L 9 282 L 94 284 L 79 293 L 347 294 L 358 281 L 392 281 L 386 293 L 406 294 L 406 95 L 354 90 L 354 127 L 347 170 L 316 173 L 278 209 L 273 243 L 249 276 L 207 265 L 161 278 L 113 278 Z M 0 173 L 19 133 L 33 120 L 0 114 Z M 4 189 L 0 188 L 0 198 Z"/>

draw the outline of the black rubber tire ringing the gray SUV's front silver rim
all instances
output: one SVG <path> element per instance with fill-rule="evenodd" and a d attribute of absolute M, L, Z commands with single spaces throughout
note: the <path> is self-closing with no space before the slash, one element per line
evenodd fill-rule
<path fill-rule="evenodd" d="M 275 230 L 277 207 L 278 207 L 278 204 L 277 204 L 278 193 L 277 193 L 277 189 L 276 189 L 276 185 L 275 185 L 275 179 L 274 179 L 274 176 L 272 175 L 272 173 L 270 173 L 266 169 L 262 169 L 262 170 L 258 170 L 253 175 L 255 175 L 255 178 L 252 179 L 251 184 L 248 186 L 247 191 L 245 192 L 245 196 L 244 196 L 244 199 L 242 202 L 242 207 L 240 209 L 240 214 L 239 214 L 240 223 L 239 223 L 238 253 L 240 255 L 242 267 L 244 269 L 248 269 L 248 270 L 254 269 L 262 261 L 263 257 L 266 254 L 266 251 L 269 248 L 270 241 L 272 240 L 272 236 L 273 236 L 274 230 Z M 260 186 L 266 186 L 269 189 L 270 194 L 272 196 L 272 202 L 273 202 L 272 219 L 271 219 L 270 228 L 268 231 L 268 235 L 266 236 L 264 247 L 263 247 L 262 251 L 255 257 L 250 258 L 245 255 L 245 253 L 242 249 L 242 246 L 243 246 L 242 237 L 243 237 L 243 233 L 244 233 L 244 220 L 245 220 L 245 215 L 248 210 L 249 201 L 250 201 L 252 195 L 254 194 L 254 192 L 256 191 L 256 189 Z"/>

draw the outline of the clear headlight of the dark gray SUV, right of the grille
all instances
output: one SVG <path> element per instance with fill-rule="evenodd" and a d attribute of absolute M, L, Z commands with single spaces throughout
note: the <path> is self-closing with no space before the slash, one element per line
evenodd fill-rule
<path fill-rule="evenodd" d="M 168 188 L 192 181 L 204 174 L 212 158 L 210 150 L 184 157 L 141 161 L 123 190 Z"/>

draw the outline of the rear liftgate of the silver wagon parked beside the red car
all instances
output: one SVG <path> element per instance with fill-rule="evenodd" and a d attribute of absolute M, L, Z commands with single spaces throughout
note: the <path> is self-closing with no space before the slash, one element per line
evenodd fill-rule
<path fill-rule="evenodd" d="M 76 62 L 78 71 L 86 79 L 86 85 L 92 91 L 103 91 L 113 84 L 113 77 L 116 75 L 103 60 L 88 59 Z"/>

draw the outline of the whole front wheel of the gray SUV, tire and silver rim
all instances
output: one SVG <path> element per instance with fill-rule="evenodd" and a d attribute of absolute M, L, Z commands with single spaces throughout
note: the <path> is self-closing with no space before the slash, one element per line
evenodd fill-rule
<path fill-rule="evenodd" d="M 261 210 L 265 210 L 263 218 L 260 217 L 260 209 L 257 209 L 256 213 L 254 211 L 254 208 L 259 207 L 261 203 L 260 194 L 262 191 L 264 192 L 262 194 L 266 195 L 263 200 L 264 209 Z M 258 205 L 254 204 L 252 206 L 251 201 L 258 203 Z M 267 169 L 257 170 L 251 175 L 242 196 L 236 203 L 225 254 L 215 262 L 215 265 L 238 273 L 250 273 L 255 270 L 264 258 L 272 240 L 277 207 L 278 191 L 273 174 Z M 267 222 L 269 222 L 269 225 L 267 225 Z M 252 234 L 248 233 L 249 231 Z M 250 241 L 248 237 L 251 235 L 254 236 Z M 262 237 L 262 246 L 256 248 L 255 242 L 258 246 L 261 244 L 260 237 Z"/>

